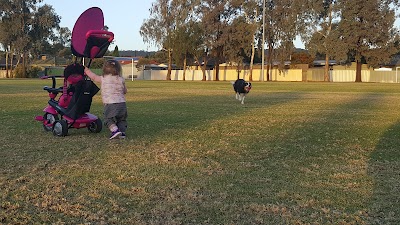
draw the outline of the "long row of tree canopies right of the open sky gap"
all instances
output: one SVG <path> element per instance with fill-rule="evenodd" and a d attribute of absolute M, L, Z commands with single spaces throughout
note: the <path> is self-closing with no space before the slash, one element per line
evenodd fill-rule
<path fill-rule="evenodd" d="M 297 36 L 312 55 L 324 55 L 326 62 L 336 59 L 354 61 L 359 66 L 362 62 L 378 66 L 399 52 L 396 45 L 399 31 L 394 27 L 398 0 L 192 0 L 187 3 L 158 0 L 157 7 L 153 5 L 151 10 L 151 18 L 142 26 L 141 35 L 147 42 L 173 48 L 171 54 L 179 55 L 175 59 L 182 59 L 189 52 L 199 59 L 193 51 L 197 49 L 199 55 L 206 56 L 202 65 L 209 60 L 215 62 L 215 80 L 219 79 L 220 62 L 240 64 L 254 58 L 254 43 L 259 43 L 258 52 L 264 51 L 264 46 L 268 49 L 269 71 L 275 62 L 290 59 Z M 164 11 L 160 10 L 161 6 Z M 259 13 L 262 11 L 264 18 Z M 198 24 L 199 29 L 185 28 L 188 21 Z M 184 44 L 185 40 L 189 42 Z M 325 80 L 328 80 L 328 65 Z M 357 81 L 361 81 L 360 74 L 358 69 Z"/>

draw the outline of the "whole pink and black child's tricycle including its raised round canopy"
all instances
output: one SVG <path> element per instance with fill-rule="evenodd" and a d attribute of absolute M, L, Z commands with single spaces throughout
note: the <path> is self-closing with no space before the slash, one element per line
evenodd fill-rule
<path fill-rule="evenodd" d="M 84 74 L 82 62 L 88 58 L 87 67 L 90 67 L 92 59 L 104 56 L 114 34 L 103 28 L 103 12 L 100 8 L 92 7 L 82 13 L 71 37 L 75 63 L 64 69 L 63 86 L 56 87 L 55 76 L 42 77 L 52 79 L 52 86 L 43 88 L 50 97 L 48 105 L 43 109 L 44 115 L 35 117 L 35 120 L 42 122 L 45 131 L 52 131 L 56 136 L 67 136 L 70 128 L 87 128 L 93 133 L 102 130 L 100 118 L 89 113 L 92 98 L 99 88 Z"/>

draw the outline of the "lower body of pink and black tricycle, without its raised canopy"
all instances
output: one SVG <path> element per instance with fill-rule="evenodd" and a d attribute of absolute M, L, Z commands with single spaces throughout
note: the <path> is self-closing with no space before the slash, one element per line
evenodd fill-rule
<path fill-rule="evenodd" d="M 69 128 L 87 128 L 90 132 L 102 130 L 102 121 L 89 113 L 92 97 L 99 88 L 83 75 L 84 67 L 71 64 L 64 70 L 64 85 L 56 88 L 56 77 L 51 78 L 52 86 L 43 89 L 49 93 L 50 100 L 43 109 L 43 116 L 36 116 L 45 131 L 52 131 L 56 136 L 67 136 Z M 82 72 L 81 72 L 82 71 Z M 61 94 L 62 93 L 62 94 Z M 61 94 L 56 100 L 58 94 Z"/>

